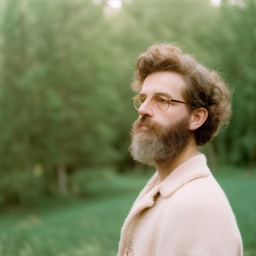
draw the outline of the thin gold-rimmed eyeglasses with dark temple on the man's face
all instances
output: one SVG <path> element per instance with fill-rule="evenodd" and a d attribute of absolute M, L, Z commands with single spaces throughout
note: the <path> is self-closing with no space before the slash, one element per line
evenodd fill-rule
<path fill-rule="evenodd" d="M 146 97 L 144 95 L 135 95 L 132 98 L 135 109 L 139 110 L 140 106 L 144 103 L 144 101 L 146 101 L 147 98 L 151 98 L 151 102 L 152 102 L 153 106 L 156 109 L 162 110 L 162 111 L 166 111 L 168 109 L 168 107 L 170 105 L 170 101 L 177 102 L 177 103 L 184 103 L 184 104 L 189 105 L 189 103 L 186 103 L 183 101 L 177 101 L 175 99 L 168 99 L 166 96 L 159 95 L 159 94 L 156 94 L 153 97 L 149 97 L 149 96 Z"/>

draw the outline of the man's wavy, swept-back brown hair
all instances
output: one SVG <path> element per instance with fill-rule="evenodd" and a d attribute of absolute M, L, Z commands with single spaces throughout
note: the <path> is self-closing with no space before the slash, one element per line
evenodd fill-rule
<path fill-rule="evenodd" d="M 138 56 L 132 89 L 140 92 L 148 74 L 164 70 L 183 76 L 186 87 L 182 90 L 182 96 L 189 103 L 190 112 L 200 107 L 207 109 L 207 120 L 195 130 L 198 146 L 204 146 L 218 134 L 222 125 L 229 124 L 231 88 L 222 74 L 205 67 L 177 44 L 158 43 Z"/>

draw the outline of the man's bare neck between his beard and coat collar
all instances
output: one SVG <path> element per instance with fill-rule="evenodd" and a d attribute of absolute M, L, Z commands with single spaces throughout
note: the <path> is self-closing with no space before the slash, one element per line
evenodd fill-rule
<path fill-rule="evenodd" d="M 169 164 L 164 166 L 156 166 L 158 172 L 158 181 L 155 184 L 158 185 L 162 182 L 175 168 L 177 168 L 180 164 L 186 162 L 191 157 L 194 157 L 198 154 L 196 144 L 188 145 L 184 151 L 175 159 L 173 159 Z"/>

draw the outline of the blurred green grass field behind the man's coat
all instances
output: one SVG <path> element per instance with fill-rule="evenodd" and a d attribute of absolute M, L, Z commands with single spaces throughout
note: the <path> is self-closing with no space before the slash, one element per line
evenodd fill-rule
<path fill-rule="evenodd" d="M 256 175 L 216 173 L 229 197 L 243 237 L 244 255 L 256 255 Z M 97 197 L 23 209 L 0 216 L 1 256 L 114 256 L 121 225 L 149 175 L 110 180 Z M 99 186 L 99 184 L 98 184 Z"/>

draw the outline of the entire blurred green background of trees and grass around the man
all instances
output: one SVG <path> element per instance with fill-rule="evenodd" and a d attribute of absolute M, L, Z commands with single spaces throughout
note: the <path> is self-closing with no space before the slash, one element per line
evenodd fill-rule
<path fill-rule="evenodd" d="M 178 42 L 234 86 L 202 152 L 256 255 L 256 0 L 1 0 L 0 255 L 112 256 L 154 173 L 130 158 L 135 59 Z"/>

